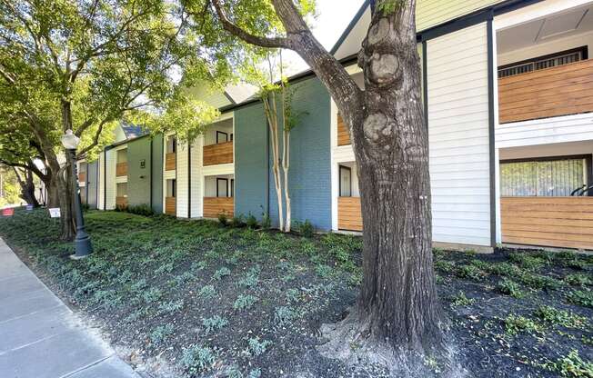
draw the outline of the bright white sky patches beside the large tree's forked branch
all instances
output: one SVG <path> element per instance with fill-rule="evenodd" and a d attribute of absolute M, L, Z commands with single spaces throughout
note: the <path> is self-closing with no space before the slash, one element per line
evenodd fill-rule
<path fill-rule="evenodd" d="M 329 51 L 344 33 L 364 0 L 317 0 L 317 19 L 312 21 L 312 31 L 317 40 Z M 283 59 L 287 65 L 286 75 L 295 75 L 308 66 L 297 53 L 286 51 Z"/>

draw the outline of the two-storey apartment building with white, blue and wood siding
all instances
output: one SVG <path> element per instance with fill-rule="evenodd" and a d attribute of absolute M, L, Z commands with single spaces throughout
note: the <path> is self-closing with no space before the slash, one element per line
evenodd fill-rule
<path fill-rule="evenodd" d="M 366 4 L 332 49 L 361 87 L 356 55 L 369 21 Z M 418 0 L 417 30 L 434 241 L 593 249 L 593 2 Z M 291 82 L 304 114 L 291 136 L 293 219 L 362 232 L 357 165 L 336 105 L 313 73 Z M 276 222 L 262 104 L 245 92 L 194 91 L 219 120 L 192 144 L 167 134 L 107 147 L 96 162 L 97 207 Z"/>

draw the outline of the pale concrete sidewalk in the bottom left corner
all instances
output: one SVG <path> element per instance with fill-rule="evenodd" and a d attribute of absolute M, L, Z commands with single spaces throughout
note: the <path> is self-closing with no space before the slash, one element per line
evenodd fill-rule
<path fill-rule="evenodd" d="M 139 378 L 0 238 L 0 377 Z"/>

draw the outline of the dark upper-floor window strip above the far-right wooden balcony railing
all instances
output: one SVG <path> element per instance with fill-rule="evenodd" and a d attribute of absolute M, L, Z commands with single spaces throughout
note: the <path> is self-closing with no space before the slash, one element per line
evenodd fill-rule
<path fill-rule="evenodd" d="M 563 51 L 552 55 L 539 56 L 522 62 L 498 67 L 498 78 L 525 74 L 557 65 L 568 65 L 587 59 L 587 46 L 574 50 Z"/>

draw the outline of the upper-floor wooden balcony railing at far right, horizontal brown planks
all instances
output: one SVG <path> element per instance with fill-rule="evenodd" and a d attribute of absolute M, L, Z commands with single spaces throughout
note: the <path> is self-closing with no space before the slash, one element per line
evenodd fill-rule
<path fill-rule="evenodd" d="M 498 79 L 501 124 L 593 112 L 593 59 Z"/>

